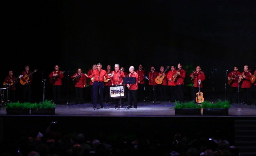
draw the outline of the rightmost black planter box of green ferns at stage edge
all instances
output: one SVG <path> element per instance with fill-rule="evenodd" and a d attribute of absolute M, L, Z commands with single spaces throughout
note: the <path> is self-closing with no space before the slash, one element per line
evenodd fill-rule
<path fill-rule="evenodd" d="M 202 102 L 203 115 L 228 115 L 230 107 L 229 101 L 222 102 L 220 99 L 217 103 Z"/>

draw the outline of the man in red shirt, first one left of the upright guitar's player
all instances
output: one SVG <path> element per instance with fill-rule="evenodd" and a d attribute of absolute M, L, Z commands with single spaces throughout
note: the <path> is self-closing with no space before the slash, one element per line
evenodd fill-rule
<path fill-rule="evenodd" d="M 177 100 L 180 102 L 184 102 L 184 79 L 186 76 L 186 71 L 182 69 L 182 65 L 178 63 L 178 71 L 176 78 L 176 89 L 177 89 Z"/>

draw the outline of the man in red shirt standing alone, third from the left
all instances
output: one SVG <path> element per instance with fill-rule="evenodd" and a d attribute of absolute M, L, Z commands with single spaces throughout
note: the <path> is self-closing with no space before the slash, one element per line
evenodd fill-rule
<path fill-rule="evenodd" d="M 61 86 L 62 86 L 62 79 L 64 78 L 62 71 L 60 71 L 60 67 L 55 65 L 55 71 L 51 72 L 48 76 L 49 78 L 55 78 L 53 81 L 52 92 L 53 92 L 53 101 L 56 104 L 60 104 L 61 100 Z"/>

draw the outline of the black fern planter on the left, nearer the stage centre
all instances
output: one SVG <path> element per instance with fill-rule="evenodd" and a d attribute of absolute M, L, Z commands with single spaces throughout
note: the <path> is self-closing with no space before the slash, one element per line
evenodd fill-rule
<path fill-rule="evenodd" d="M 45 100 L 44 103 L 31 104 L 30 110 L 32 115 L 55 115 L 55 105 L 48 100 Z"/>

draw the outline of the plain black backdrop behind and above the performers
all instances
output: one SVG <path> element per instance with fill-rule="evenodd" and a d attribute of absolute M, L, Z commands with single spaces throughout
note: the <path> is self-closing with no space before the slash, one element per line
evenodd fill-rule
<path fill-rule="evenodd" d="M 40 100 L 42 72 L 48 76 L 55 64 L 73 74 L 99 62 L 103 69 L 119 63 L 127 72 L 131 65 L 148 72 L 181 62 L 200 65 L 205 89 L 214 81 L 221 92 L 224 70 L 255 69 L 255 15 L 255 1 L 246 0 L 5 1 L 0 82 L 29 64 L 38 69 L 33 93 Z M 48 83 L 46 91 L 51 98 Z"/>

